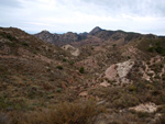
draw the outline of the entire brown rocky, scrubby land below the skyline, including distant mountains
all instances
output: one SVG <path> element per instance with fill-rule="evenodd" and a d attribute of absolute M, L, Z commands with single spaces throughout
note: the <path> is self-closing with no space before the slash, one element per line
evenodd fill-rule
<path fill-rule="evenodd" d="M 0 123 L 164 124 L 165 37 L 0 29 Z"/>

